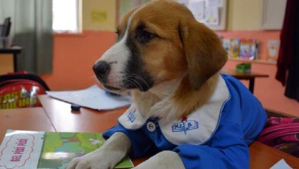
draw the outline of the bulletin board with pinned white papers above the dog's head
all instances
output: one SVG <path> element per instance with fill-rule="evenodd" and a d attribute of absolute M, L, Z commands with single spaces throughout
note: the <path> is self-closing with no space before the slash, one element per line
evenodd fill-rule
<path fill-rule="evenodd" d="M 214 31 L 226 29 L 226 6 L 229 0 L 178 0 L 186 5 L 197 21 Z"/>

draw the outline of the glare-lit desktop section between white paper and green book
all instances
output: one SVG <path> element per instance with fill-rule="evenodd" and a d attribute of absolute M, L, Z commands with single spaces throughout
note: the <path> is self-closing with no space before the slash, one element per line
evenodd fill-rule
<path fill-rule="evenodd" d="M 38 96 L 48 117 L 57 131 L 63 132 L 103 132 L 117 124 L 117 118 L 127 109 L 95 111 L 80 108 L 71 111 L 70 104 L 43 95 Z"/>

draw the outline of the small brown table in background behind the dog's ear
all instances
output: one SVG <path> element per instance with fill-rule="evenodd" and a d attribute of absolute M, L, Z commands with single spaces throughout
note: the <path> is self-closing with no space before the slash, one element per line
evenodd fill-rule
<path fill-rule="evenodd" d="M 239 80 L 248 80 L 249 81 L 249 91 L 253 93 L 254 90 L 254 82 L 256 78 L 268 78 L 269 76 L 266 74 L 261 73 L 238 73 L 235 70 L 231 70 L 229 68 L 222 68 L 221 73 L 228 74 L 231 76 L 234 76 L 235 78 L 238 78 Z"/>

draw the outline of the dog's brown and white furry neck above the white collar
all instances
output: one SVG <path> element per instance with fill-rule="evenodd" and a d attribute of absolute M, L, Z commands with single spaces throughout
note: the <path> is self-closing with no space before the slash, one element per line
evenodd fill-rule
<path fill-rule="evenodd" d="M 206 103 L 215 90 L 219 74 L 212 76 L 199 90 L 189 85 L 187 76 L 157 84 L 147 92 L 133 91 L 132 100 L 144 118 L 178 120 Z M 184 91 L 182 91 L 184 90 Z"/>

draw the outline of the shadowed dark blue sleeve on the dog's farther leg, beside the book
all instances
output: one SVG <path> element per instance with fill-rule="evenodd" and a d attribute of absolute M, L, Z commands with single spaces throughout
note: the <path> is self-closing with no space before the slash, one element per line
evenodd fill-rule
<path fill-rule="evenodd" d="M 155 148 L 150 138 L 148 138 L 147 135 L 145 135 L 145 133 L 142 131 L 142 128 L 137 130 L 127 130 L 119 124 L 110 128 L 109 130 L 106 130 L 103 133 L 103 138 L 107 140 L 113 133 L 116 132 L 125 133 L 125 135 L 130 138 L 131 149 L 129 155 L 131 158 L 145 156 L 150 152 L 150 150 L 152 150 L 152 148 Z"/>

